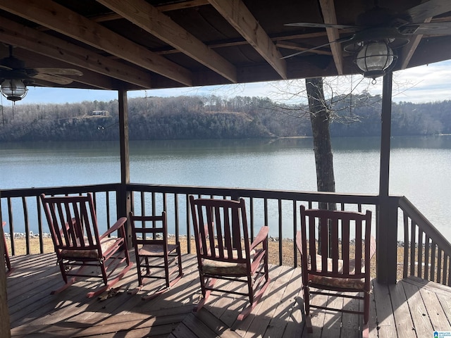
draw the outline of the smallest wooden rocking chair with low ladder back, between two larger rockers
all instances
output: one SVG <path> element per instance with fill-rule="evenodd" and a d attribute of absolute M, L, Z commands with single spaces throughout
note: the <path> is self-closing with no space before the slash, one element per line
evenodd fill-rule
<path fill-rule="evenodd" d="M 139 282 L 134 293 L 144 286 L 143 278 L 165 280 L 163 288 L 142 297 L 144 300 L 152 299 L 173 287 L 183 276 L 180 243 L 168 244 L 166 211 L 156 216 L 137 216 L 130 213 L 130 223 Z M 161 273 L 158 273 L 158 270 Z"/>

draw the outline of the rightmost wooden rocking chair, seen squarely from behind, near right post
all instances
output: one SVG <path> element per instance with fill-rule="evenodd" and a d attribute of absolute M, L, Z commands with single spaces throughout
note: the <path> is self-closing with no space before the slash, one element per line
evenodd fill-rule
<path fill-rule="evenodd" d="M 368 333 L 370 261 L 376 251 L 376 241 L 371 236 L 371 211 L 306 210 L 304 206 L 300 209 L 301 230 L 297 232 L 296 245 L 301 254 L 308 332 L 312 332 L 310 308 L 321 308 L 363 314 Z M 333 296 L 363 300 L 363 311 L 359 306 L 354 311 L 310 303 L 312 294 L 330 292 L 336 292 Z"/>

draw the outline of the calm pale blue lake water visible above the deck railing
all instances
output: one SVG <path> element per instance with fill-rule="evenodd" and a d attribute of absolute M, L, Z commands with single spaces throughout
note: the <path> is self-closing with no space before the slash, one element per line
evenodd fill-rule
<path fill-rule="evenodd" d="M 377 194 L 380 139 L 332 140 L 337 192 Z M 116 142 L 0 144 L 0 189 L 120 182 Z M 390 194 L 448 238 L 451 136 L 394 137 Z M 316 191 L 310 138 L 130 142 L 130 182 Z"/>

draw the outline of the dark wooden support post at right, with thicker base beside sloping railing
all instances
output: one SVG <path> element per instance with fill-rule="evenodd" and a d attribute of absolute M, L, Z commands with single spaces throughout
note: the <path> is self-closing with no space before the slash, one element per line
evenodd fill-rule
<path fill-rule="evenodd" d="M 397 205 L 390 204 L 389 196 L 392 82 L 393 73 L 389 72 L 383 77 L 379 215 L 376 225 L 377 280 L 387 284 L 396 283 L 397 263 Z"/>

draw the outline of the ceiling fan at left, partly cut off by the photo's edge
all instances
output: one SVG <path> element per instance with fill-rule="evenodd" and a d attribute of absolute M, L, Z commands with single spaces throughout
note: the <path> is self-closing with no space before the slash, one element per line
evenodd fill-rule
<path fill-rule="evenodd" d="M 0 59 L 0 92 L 6 99 L 19 101 L 27 94 L 27 85 L 35 79 L 56 84 L 70 84 L 72 79 L 66 76 L 82 76 L 80 70 L 72 68 L 28 68 L 25 62 L 13 56 L 13 46 L 9 47 L 9 56 Z"/>

